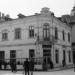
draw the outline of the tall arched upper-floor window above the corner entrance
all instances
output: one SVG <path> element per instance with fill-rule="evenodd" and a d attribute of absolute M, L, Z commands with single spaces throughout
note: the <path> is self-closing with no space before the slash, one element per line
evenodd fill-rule
<path fill-rule="evenodd" d="M 50 38 L 50 30 L 49 30 L 48 23 L 45 23 L 43 25 L 43 38 L 44 38 L 44 40 L 49 40 L 49 38 Z"/>

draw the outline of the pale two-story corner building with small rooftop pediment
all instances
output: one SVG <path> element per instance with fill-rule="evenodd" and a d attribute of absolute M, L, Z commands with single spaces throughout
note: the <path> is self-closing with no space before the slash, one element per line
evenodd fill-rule
<path fill-rule="evenodd" d="M 37 60 L 41 65 L 50 59 L 54 67 L 62 66 L 63 60 L 72 64 L 71 28 L 47 7 L 39 14 L 0 23 L 0 59 L 23 62 L 20 58 L 30 57 L 44 59 Z"/>

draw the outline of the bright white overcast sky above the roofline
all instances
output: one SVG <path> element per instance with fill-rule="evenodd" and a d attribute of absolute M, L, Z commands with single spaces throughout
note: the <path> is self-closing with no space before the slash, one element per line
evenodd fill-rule
<path fill-rule="evenodd" d="M 40 13 L 41 8 L 48 7 L 59 17 L 70 14 L 75 0 L 0 0 L 0 12 L 16 18 L 19 13 L 26 16 Z"/>

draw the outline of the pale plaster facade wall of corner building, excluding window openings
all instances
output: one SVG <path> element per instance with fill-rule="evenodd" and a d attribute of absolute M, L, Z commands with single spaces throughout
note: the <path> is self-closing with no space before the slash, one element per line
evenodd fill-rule
<path fill-rule="evenodd" d="M 46 8 L 45 8 L 46 9 Z M 62 65 L 63 60 L 63 50 L 65 50 L 65 61 L 67 65 L 72 64 L 72 54 L 71 62 L 69 62 L 68 51 L 71 51 L 71 40 L 68 42 L 68 33 L 71 35 L 71 28 L 65 23 L 59 21 L 56 17 L 51 15 L 51 12 L 47 9 L 40 12 L 40 14 L 35 14 L 32 16 L 27 16 L 21 19 L 15 19 L 12 21 L 6 21 L 0 23 L 0 51 L 5 51 L 5 59 L 10 59 L 10 51 L 16 50 L 16 58 L 29 58 L 29 50 L 35 50 L 35 58 L 43 57 L 43 50 L 49 49 L 51 51 L 51 59 L 54 66 Z M 47 12 L 45 12 L 47 11 Z M 45 23 L 49 24 L 50 30 L 50 40 L 43 41 L 43 25 Z M 34 37 L 29 37 L 29 26 L 34 26 Z M 55 36 L 55 27 L 58 29 L 58 39 Z M 15 29 L 21 28 L 21 39 L 15 40 L 14 34 Z M 62 31 L 65 32 L 65 41 L 63 41 Z M 2 41 L 2 32 L 8 33 L 8 40 Z M 39 36 L 39 41 L 37 41 L 37 36 Z M 52 41 L 55 40 L 56 42 Z M 70 36 L 71 39 L 71 36 Z M 42 48 L 42 45 L 51 45 L 51 48 Z M 58 50 L 59 63 L 55 62 L 55 50 Z"/>

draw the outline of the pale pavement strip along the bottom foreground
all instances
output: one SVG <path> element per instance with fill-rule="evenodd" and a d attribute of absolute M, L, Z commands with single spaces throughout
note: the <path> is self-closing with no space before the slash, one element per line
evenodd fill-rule
<path fill-rule="evenodd" d="M 25 75 L 23 71 L 18 71 L 16 73 L 12 73 L 11 71 L 0 71 L 0 75 Z M 54 72 L 33 72 L 33 75 L 75 75 L 73 69 L 54 71 Z"/>

